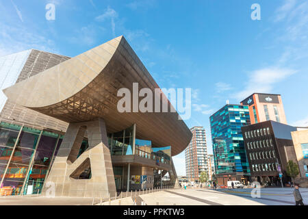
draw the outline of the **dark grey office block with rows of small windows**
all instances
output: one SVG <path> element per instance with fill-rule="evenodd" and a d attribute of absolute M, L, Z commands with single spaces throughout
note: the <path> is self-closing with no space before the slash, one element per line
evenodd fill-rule
<path fill-rule="evenodd" d="M 244 146 L 253 181 L 261 184 L 278 185 L 279 172 L 286 176 L 287 162 L 296 162 L 296 155 L 291 137 L 296 127 L 268 120 L 242 127 Z"/>

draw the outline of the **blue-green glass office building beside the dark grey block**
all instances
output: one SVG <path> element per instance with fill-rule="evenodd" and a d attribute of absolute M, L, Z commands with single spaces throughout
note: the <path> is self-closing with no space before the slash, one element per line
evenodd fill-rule
<path fill-rule="evenodd" d="M 209 119 L 216 174 L 250 172 L 241 131 L 251 124 L 248 106 L 225 105 Z"/>

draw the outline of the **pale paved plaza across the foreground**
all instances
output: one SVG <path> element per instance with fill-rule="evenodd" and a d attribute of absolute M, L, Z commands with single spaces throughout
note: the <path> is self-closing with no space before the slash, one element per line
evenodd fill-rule
<path fill-rule="evenodd" d="M 47 198 L 44 196 L 7 196 L 0 198 L 0 205 L 294 205 L 292 188 L 262 188 L 260 198 L 251 196 L 252 189 L 163 190 L 138 194 L 112 201 L 99 198 Z M 305 205 L 308 189 L 300 188 Z"/>

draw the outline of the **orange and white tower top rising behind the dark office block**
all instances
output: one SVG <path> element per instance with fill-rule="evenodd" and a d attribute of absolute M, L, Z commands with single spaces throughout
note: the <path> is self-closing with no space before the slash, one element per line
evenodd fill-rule
<path fill-rule="evenodd" d="M 251 124 L 267 120 L 287 124 L 280 94 L 254 93 L 244 99 L 241 104 L 248 105 Z"/>

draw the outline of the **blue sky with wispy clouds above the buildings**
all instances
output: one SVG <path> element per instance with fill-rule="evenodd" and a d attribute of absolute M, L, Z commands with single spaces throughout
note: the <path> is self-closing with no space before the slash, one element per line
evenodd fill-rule
<path fill-rule="evenodd" d="M 45 6 L 55 4 L 55 21 Z M 251 5 L 261 20 L 251 19 Z M 188 127 L 226 100 L 282 95 L 287 121 L 308 125 L 308 1 L 0 0 L 0 55 L 40 49 L 75 56 L 124 35 L 161 88 L 192 88 Z M 185 175 L 184 153 L 174 158 Z"/>

